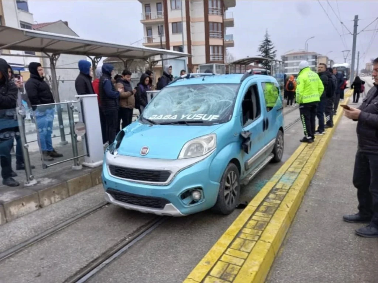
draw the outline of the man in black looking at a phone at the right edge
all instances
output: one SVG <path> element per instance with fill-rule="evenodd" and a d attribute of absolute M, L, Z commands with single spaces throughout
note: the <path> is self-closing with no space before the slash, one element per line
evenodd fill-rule
<path fill-rule="evenodd" d="M 352 223 L 369 223 L 356 230 L 362 237 L 378 238 L 378 57 L 373 60 L 374 86 L 358 108 L 343 107 L 344 115 L 358 121 L 358 149 L 353 172 L 358 213 L 344 215 Z"/>

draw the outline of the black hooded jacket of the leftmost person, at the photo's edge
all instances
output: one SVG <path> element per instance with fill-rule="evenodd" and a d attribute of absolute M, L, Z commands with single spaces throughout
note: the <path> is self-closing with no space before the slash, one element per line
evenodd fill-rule
<path fill-rule="evenodd" d="M 0 73 L 3 78 L 0 80 L 0 118 L 5 114 L 5 109 L 17 107 L 17 87 L 8 77 L 8 63 L 0 58 Z"/>

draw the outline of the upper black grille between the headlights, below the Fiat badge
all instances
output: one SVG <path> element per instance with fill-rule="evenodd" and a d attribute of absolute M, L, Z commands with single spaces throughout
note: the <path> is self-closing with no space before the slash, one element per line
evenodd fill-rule
<path fill-rule="evenodd" d="M 170 176 L 170 172 L 165 170 L 144 170 L 115 165 L 109 165 L 109 170 L 113 176 L 145 182 L 166 182 Z"/>

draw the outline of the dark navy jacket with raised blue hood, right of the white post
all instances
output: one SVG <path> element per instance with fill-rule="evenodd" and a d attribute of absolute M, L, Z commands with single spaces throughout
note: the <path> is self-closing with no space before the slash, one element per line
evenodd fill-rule
<path fill-rule="evenodd" d="M 99 82 L 99 96 L 101 107 L 104 111 L 118 111 L 119 92 L 112 84 L 113 66 L 110 64 L 102 65 L 102 76 Z"/>

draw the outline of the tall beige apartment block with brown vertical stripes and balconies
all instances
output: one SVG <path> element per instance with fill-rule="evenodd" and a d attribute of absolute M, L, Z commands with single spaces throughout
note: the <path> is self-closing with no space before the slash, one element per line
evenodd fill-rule
<path fill-rule="evenodd" d="M 164 48 L 192 54 L 187 68 L 196 72 L 198 65 L 225 63 L 227 48 L 234 46 L 234 26 L 229 8 L 235 0 L 139 0 L 146 47 Z M 161 65 L 156 66 L 156 76 Z"/>

